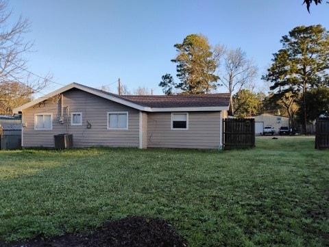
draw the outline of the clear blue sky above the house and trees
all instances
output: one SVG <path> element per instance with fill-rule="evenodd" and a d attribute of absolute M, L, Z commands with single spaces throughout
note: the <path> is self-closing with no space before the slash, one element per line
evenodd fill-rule
<path fill-rule="evenodd" d="M 34 52 L 29 70 L 53 73 L 47 93 L 71 82 L 117 92 L 118 78 L 162 94 L 162 75 L 176 74 L 173 44 L 188 34 L 203 34 L 210 44 L 241 47 L 259 68 L 260 79 L 282 46 L 280 38 L 299 25 L 329 30 L 329 4 L 303 0 L 10 0 L 12 16 L 28 18 Z M 325 1 L 324 1 L 325 2 Z M 175 81 L 179 82 L 176 77 Z M 219 92 L 226 92 L 219 88 Z"/>

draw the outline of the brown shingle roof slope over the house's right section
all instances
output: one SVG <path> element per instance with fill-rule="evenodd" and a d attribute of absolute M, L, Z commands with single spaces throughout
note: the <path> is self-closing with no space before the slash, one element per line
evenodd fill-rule
<path fill-rule="evenodd" d="M 193 95 L 143 95 L 121 96 L 145 107 L 227 107 L 230 94 L 193 94 Z"/>

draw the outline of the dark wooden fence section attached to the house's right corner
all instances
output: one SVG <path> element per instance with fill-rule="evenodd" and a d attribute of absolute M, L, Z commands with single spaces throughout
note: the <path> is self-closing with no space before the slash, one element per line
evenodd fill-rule
<path fill-rule="evenodd" d="M 255 120 L 254 118 L 225 118 L 223 119 L 223 148 L 254 147 Z"/>

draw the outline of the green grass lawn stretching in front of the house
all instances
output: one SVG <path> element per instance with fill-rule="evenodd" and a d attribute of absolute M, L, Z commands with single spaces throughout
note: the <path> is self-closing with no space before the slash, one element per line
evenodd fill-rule
<path fill-rule="evenodd" d="M 256 138 L 232 151 L 0 151 L 0 239 L 168 220 L 189 246 L 329 246 L 329 151 Z"/>

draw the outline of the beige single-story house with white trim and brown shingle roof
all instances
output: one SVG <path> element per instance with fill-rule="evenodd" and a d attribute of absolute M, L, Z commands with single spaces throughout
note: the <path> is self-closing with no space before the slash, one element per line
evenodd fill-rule
<path fill-rule="evenodd" d="M 230 102 L 230 94 L 119 96 L 71 83 L 14 112 L 23 148 L 53 148 L 62 133 L 73 147 L 221 148 Z"/>

